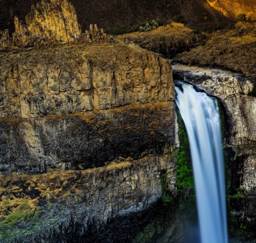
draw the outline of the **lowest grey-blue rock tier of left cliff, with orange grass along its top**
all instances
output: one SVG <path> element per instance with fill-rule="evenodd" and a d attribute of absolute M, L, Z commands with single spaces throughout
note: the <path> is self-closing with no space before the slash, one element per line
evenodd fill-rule
<path fill-rule="evenodd" d="M 161 170 L 167 171 L 174 186 L 175 164 L 170 162 L 171 159 L 168 153 L 138 161 L 119 158 L 119 161 L 97 169 L 0 178 L 6 190 L 19 185 L 18 188 L 30 196 L 32 191 L 38 195 L 42 190 L 37 220 L 20 224 L 15 231 L 2 232 L 6 228 L 1 227 L 0 242 L 71 242 L 79 240 L 85 233 L 96 233 L 117 216 L 145 210 L 162 195 Z M 17 192 L 14 193 L 16 197 Z M 133 231 L 137 232 L 137 229 Z M 113 241 L 111 236 L 113 234 L 104 242 L 121 242 Z"/>

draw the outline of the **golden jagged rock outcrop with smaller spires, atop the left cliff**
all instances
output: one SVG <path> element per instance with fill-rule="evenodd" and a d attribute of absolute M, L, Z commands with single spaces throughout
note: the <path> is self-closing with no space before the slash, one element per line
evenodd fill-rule
<path fill-rule="evenodd" d="M 14 17 L 15 32 L 0 31 L 0 49 L 66 44 L 71 42 L 112 42 L 112 36 L 90 25 L 82 33 L 73 5 L 68 0 L 42 0 L 32 5 L 24 21 Z"/>

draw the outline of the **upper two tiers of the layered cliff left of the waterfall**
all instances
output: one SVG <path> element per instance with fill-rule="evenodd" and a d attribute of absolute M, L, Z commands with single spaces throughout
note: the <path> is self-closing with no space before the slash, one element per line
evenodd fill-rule
<path fill-rule="evenodd" d="M 158 153 L 159 144 L 174 141 L 171 65 L 153 53 L 106 44 L 1 61 L 3 174 L 100 166 L 117 156 Z"/>

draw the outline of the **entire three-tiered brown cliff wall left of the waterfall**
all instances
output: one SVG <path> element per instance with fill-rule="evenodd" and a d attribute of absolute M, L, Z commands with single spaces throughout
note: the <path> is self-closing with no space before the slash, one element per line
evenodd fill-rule
<path fill-rule="evenodd" d="M 117 43 L 0 60 L 0 242 L 99 232 L 161 198 L 163 173 L 176 193 L 170 60 Z"/>

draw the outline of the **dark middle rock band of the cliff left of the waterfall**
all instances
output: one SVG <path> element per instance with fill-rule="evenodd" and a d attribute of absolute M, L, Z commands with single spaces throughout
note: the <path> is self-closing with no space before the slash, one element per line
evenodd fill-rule
<path fill-rule="evenodd" d="M 175 144 L 172 102 L 52 115 L 0 119 L 0 173 L 42 173 L 47 168 L 99 167 L 119 156 L 161 154 Z"/>

